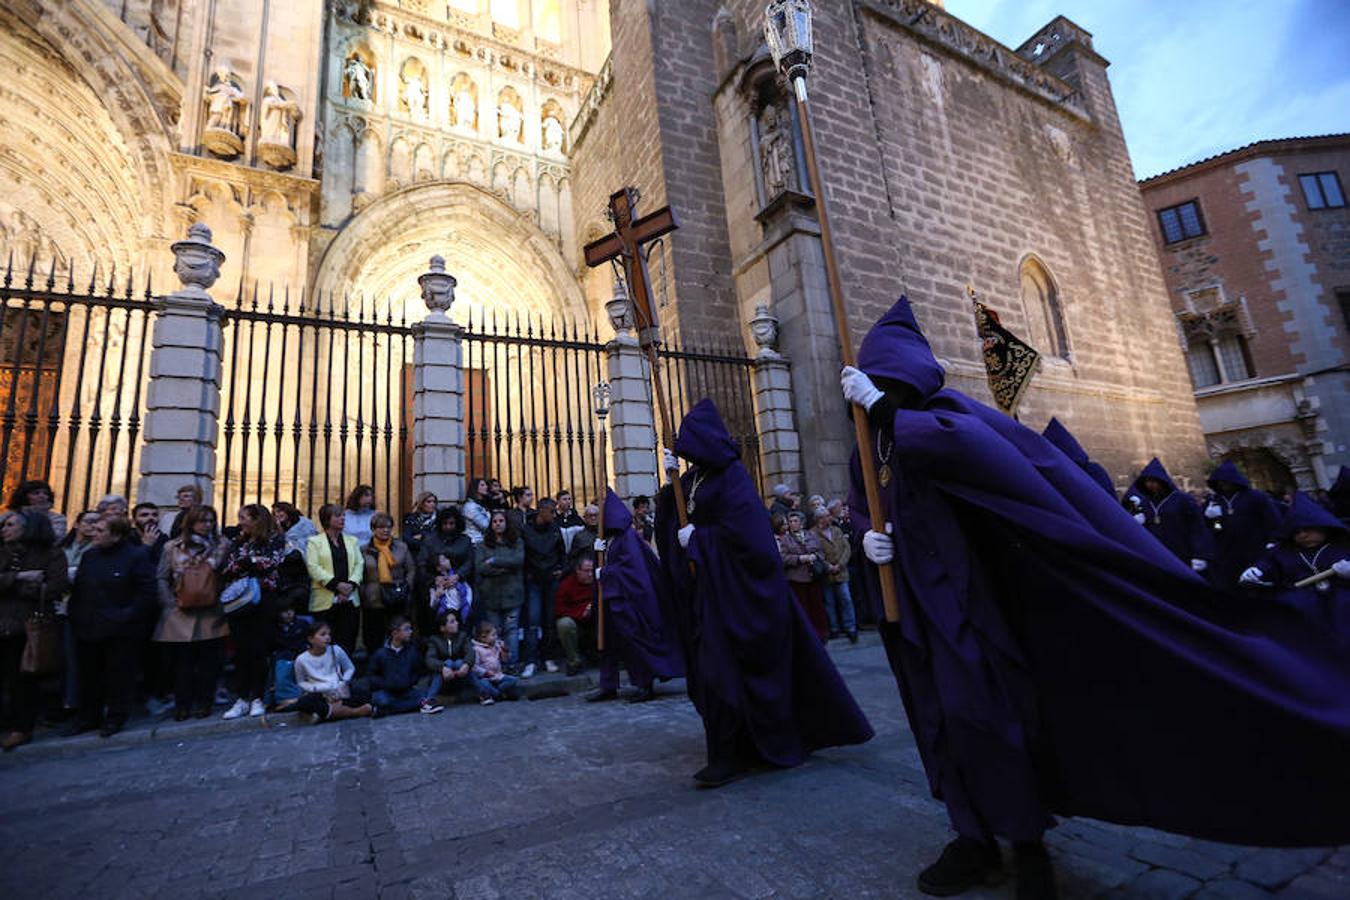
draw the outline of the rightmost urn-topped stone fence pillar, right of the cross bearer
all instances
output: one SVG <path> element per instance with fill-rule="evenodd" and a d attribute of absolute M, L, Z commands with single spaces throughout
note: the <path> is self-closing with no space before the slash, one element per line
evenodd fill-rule
<path fill-rule="evenodd" d="M 783 483 L 801 491 L 805 487 L 802 440 L 792 414 L 792 370 L 775 349 L 778 318 L 767 305 L 761 304 L 755 309 L 751 336 L 760 348 L 755 356 L 755 422 L 760 434 L 760 471 L 764 483 L 759 488 L 767 494 L 775 484 Z"/>

